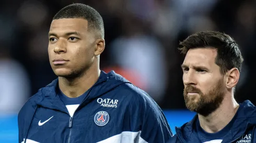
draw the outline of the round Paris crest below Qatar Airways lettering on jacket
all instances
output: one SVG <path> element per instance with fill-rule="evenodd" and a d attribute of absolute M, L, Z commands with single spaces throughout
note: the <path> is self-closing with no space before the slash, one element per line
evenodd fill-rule
<path fill-rule="evenodd" d="M 107 125 L 109 122 L 109 113 L 106 111 L 99 111 L 94 116 L 94 122 L 98 126 L 104 126 Z"/>

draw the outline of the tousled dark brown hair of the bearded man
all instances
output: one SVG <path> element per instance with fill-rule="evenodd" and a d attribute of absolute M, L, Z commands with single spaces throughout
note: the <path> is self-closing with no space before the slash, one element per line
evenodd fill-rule
<path fill-rule="evenodd" d="M 179 50 L 185 55 L 193 48 L 216 48 L 215 63 L 220 67 L 220 73 L 225 74 L 232 68 L 241 72 L 243 57 L 238 44 L 229 35 L 215 31 L 197 32 L 179 44 Z"/>

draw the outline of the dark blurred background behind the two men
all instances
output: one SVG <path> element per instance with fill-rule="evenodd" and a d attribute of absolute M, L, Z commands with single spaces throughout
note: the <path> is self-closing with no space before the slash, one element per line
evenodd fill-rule
<path fill-rule="evenodd" d="M 72 3 L 99 11 L 106 48 L 103 71 L 114 70 L 146 90 L 166 113 L 172 131 L 192 119 L 183 101 L 180 41 L 192 33 L 225 32 L 243 58 L 238 102 L 256 103 L 256 1 L 247 0 L 9 0 L 0 4 L 0 142 L 17 142 L 17 113 L 38 89 L 56 79 L 48 59 L 53 16 Z"/>

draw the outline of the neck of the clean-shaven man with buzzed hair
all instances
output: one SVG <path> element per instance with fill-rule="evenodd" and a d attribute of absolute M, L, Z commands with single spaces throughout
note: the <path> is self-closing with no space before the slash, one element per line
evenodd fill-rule
<path fill-rule="evenodd" d="M 99 79 L 100 69 L 98 65 L 92 64 L 82 76 L 67 79 L 59 77 L 59 86 L 63 94 L 67 97 L 75 98 L 84 94 Z"/>

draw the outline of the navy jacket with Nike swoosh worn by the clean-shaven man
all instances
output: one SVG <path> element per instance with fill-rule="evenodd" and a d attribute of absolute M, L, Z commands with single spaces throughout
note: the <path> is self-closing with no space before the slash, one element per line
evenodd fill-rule
<path fill-rule="evenodd" d="M 56 94 L 58 80 L 39 89 L 18 114 L 19 142 L 166 142 L 164 113 L 121 75 L 101 72 L 73 118 Z"/>

